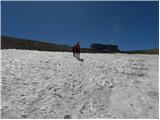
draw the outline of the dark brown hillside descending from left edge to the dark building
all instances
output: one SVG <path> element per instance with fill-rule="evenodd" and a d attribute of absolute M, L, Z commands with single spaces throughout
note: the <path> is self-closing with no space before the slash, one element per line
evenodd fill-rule
<path fill-rule="evenodd" d="M 67 45 L 58 45 L 53 43 L 41 42 L 37 40 L 27 40 L 9 36 L 1 37 L 2 49 L 28 49 L 40 51 L 66 51 L 71 52 L 72 47 Z M 96 52 L 90 48 L 81 48 L 81 52 L 93 53 Z"/>

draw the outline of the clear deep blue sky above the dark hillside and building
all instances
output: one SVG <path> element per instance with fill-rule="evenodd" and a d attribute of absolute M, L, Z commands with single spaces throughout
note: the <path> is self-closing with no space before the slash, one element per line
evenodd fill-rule
<path fill-rule="evenodd" d="M 1 2 L 1 34 L 81 47 L 158 48 L 158 1 Z"/>

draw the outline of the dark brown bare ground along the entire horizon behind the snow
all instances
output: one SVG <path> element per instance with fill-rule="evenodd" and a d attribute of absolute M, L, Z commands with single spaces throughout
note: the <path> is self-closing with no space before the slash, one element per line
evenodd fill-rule
<path fill-rule="evenodd" d="M 27 40 L 16 37 L 1 36 L 1 48 L 2 49 L 28 49 L 28 50 L 40 50 L 40 51 L 65 51 L 72 52 L 72 47 L 67 45 L 58 45 L 53 43 L 41 42 L 37 40 Z M 98 51 L 92 48 L 81 48 L 82 53 L 107 53 Z M 149 50 L 133 50 L 133 51 L 109 51 L 128 53 L 128 54 L 159 54 L 159 49 Z"/>

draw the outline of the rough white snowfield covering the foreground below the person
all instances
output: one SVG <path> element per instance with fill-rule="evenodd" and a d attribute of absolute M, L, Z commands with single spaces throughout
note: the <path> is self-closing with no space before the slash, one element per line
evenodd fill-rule
<path fill-rule="evenodd" d="M 159 118 L 158 55 L 1 53 L 2 118 Z"/>

